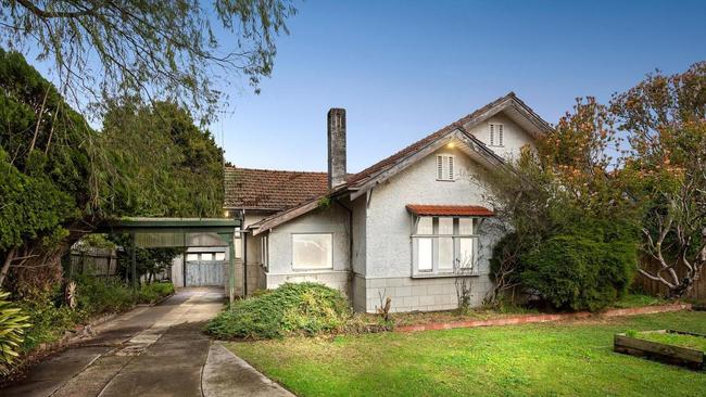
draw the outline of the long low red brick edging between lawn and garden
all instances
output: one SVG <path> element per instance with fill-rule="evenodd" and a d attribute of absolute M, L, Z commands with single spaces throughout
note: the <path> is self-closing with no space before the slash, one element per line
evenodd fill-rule
<path fill-rule="evenodd" d="M 431 322 L 427 324 L 417 325 L 401 325 L 394 330 L 396 332 L 417 332 L 417 331 L 433 331 L 433 330 L 451 330 L 455 328 L 476 328 L 476 326 L 491 326 L 491 325 L 516 325 L 528 324 L 534 322 L 551 322 L 560 320 L 579 320 L 587 318 L 610 318 L 622 316 L 639 316 L 639 315 L 653 315 L 668 311 L 691 310 L 691 304 L 671 304 L 659 306 L 644 306 L 633 307 L 629 309 L 608 309 L 600 313 L 591 313 L 588 311 L 556 313 L 556 315 L 521 315 L 503 317 L 499 319 L 488 320 L 466 320 L 466 321 L 451 321 L 451 322 Z"/>

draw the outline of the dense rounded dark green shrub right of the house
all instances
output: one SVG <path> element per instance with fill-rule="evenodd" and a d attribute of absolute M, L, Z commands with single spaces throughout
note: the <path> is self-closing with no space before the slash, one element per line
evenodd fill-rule
<path fill-rule="evenodd" d="M 522 284 L 562 309 L 595 311 L 615 302 L 632 280 L 636 244 L 559 234 L 522 258 Z"/>

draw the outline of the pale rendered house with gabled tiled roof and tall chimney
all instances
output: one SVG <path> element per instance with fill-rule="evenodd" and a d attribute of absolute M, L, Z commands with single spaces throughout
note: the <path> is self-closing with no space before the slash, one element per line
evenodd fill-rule
<path fill-rule="evenodd" d="M 348 174 L 345 111 L 330 110 L 328 172 L 226 168 L 224 206 L 243 220 L 237 292 L 318 281 L 345 293 L 356 311 L 375 311 L 387 296 L 393 311 L 443 310 L 457 307 L 462 267 L 480 304 L 502 236 L 483 169 L 549 128 L 510 92 Z"/>

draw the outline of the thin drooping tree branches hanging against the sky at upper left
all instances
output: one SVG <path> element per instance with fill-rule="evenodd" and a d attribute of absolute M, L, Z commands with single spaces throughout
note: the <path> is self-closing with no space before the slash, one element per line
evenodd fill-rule
<path fill-rule="evenodd" d="M 272 73 L 289 0 L 1 0 L 0 37 L 38 50 L 74 105 L 165 99 L 211 117 L 230 75 L 257 90 Z M 227 35 L 220 41 L 217 30 Z"/>

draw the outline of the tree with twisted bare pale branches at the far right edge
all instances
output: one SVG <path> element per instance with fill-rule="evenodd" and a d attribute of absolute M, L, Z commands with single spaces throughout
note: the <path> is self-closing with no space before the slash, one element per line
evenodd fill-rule
<path fill-rule="evenodd" d="M 647 75 L 612 110 L 630 140 L 630 193 L 646 208 L 643 252 L 657 264 L 639 271 L 681 297 L 706 265 L 706 62 Z"/>

